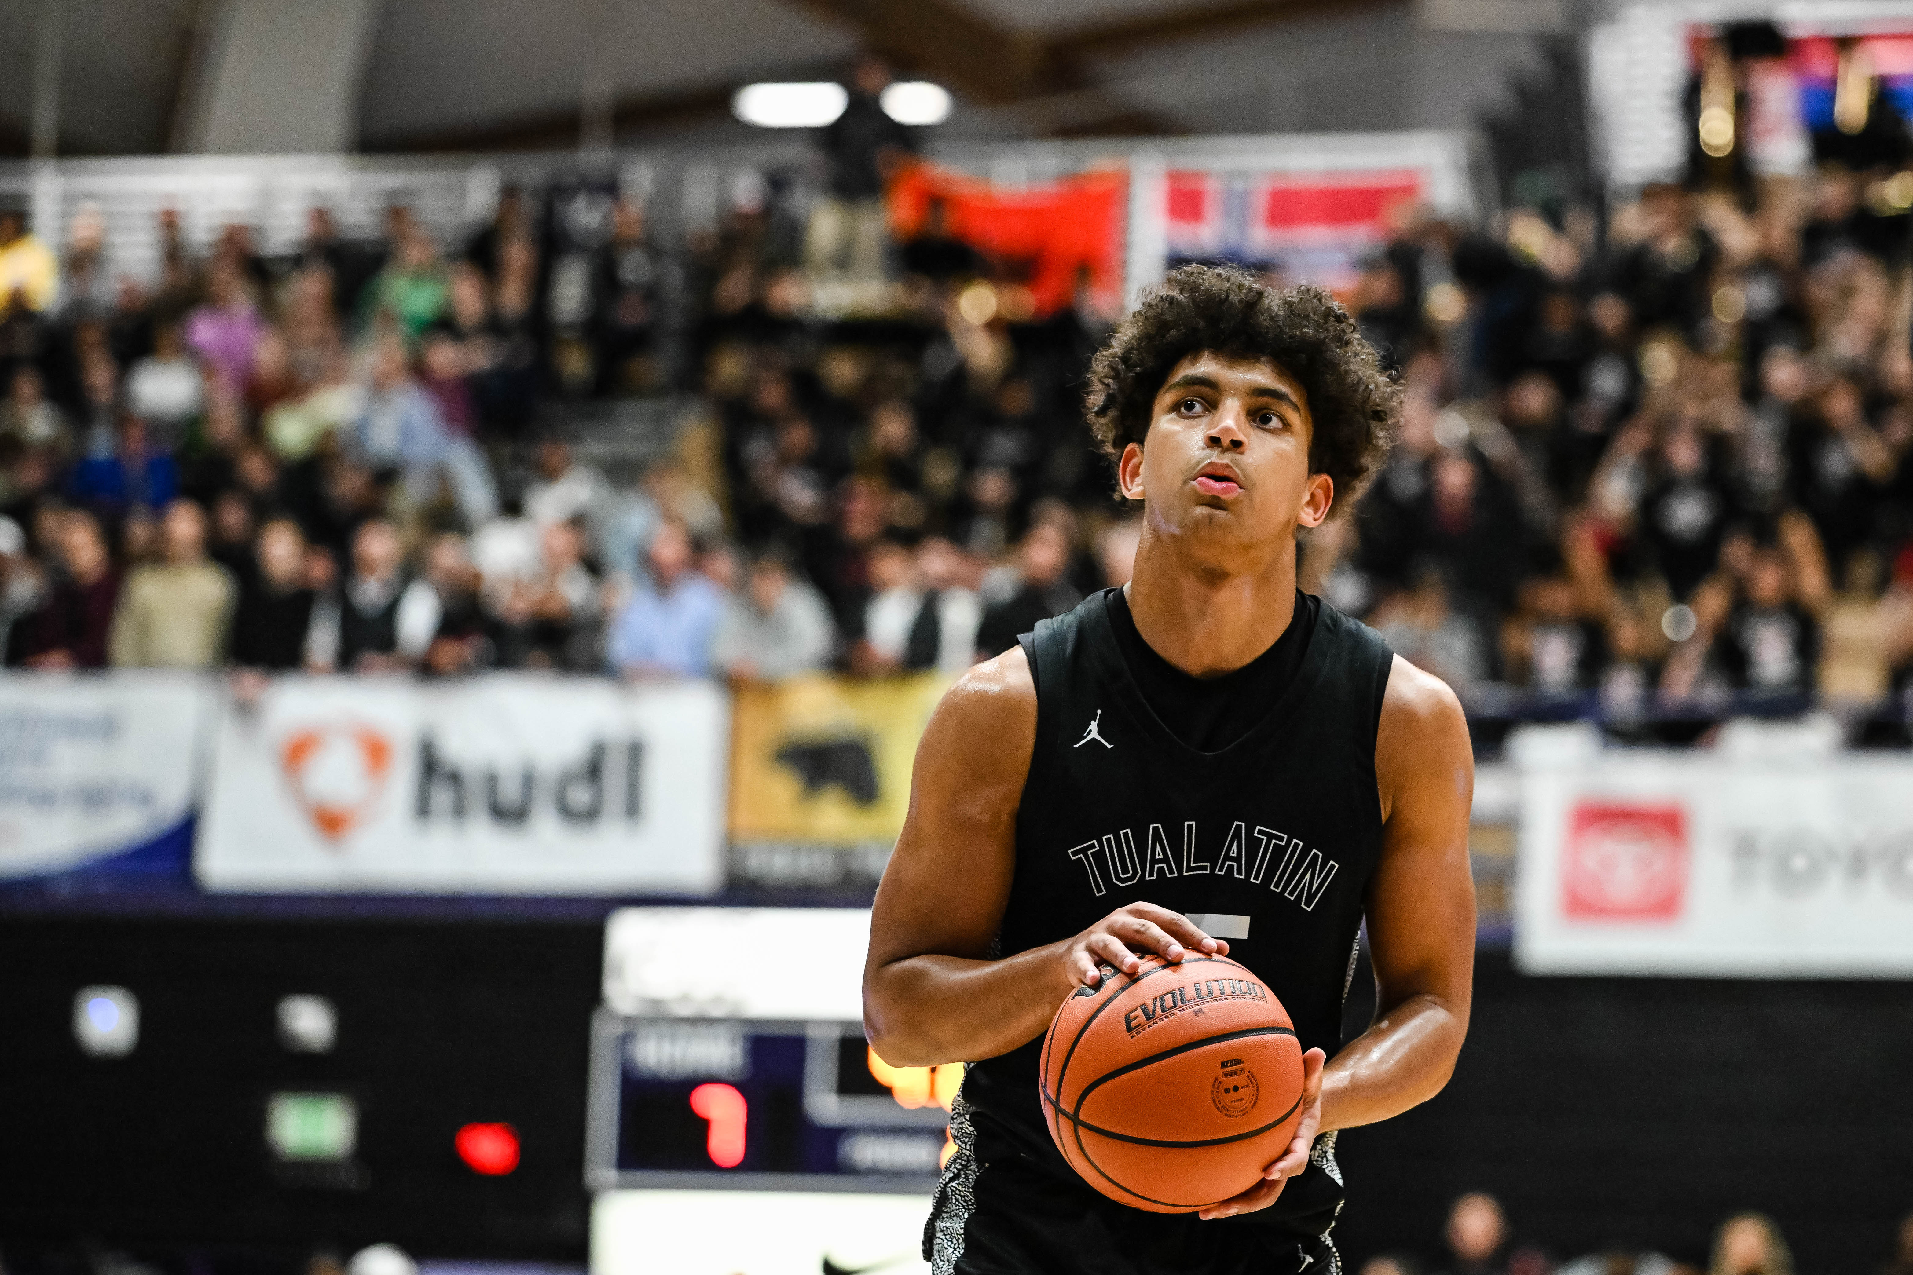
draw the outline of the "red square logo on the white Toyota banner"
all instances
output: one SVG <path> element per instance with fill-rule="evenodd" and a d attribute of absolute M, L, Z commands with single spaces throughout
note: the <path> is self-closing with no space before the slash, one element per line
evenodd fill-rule
<path fill-rule="evenodd" d="M 1687 810 L 1582 801 L 1567 826 L 1561 910 L 1590 921 L 1672 921 L 1687 902 Z"/>

